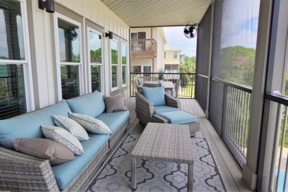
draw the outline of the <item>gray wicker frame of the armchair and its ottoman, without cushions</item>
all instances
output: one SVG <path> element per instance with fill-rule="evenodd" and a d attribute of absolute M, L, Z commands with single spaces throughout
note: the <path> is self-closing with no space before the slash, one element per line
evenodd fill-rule
<path fill-rule="evenodd" d="M 179 99 L 176 99 L 165 93 L 165 101 L 167 106 L 178 108 L 181 110 L 181 103 Z M 136 93 L 136 117 L 142 125 L 147 125 L 149 122 L 154 123 L 169 123 L 168 119 L 160 115 L 154 114 L 154 105 L 152 101 L 144 97 L 141 92 Z M 200 123 L 189 123 L 189 129 L 191 136 L 195 136 L 195 132 L 200 130 Z"/>

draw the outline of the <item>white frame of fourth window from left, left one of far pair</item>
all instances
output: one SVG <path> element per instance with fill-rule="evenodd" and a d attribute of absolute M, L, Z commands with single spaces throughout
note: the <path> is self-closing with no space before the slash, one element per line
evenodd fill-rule
<path fill-rule="evenodd" d="M 117 43 L 117 48 L 118 48 L 118 63 L 117 64 L 115 64 L 115 63 L 112 63 L 112 49 L 111 49 L 111 41 L 115 41 L 116 43 Z M 120 55 L 121 55 L 121 52 L 119 51 L 120 49 L 119 49 L 119 46 L 120 46 L 120 42 L 119 42 L 119 40 L 117 40 L 117 39 L 115 39 L 115 38 L 113 38 L 113 39 L 110 39 L 110 41 L 109 41 L 109 52 L 110 52 L 110 92 L 112 92 L 112 91 L 116 91 L 117 89 L 119 89 L 119 82 L 121 82 L 121 79 L 120 79 L 120 77 L 121 77 L 121 75 L 119 75 L 119 73 L 120 73 L 120 66 L 121 66 L 121 64 L 120 64 Z M 117 66 L 117 86 L 116 87 L 112 87 L 112 66 Z"/>

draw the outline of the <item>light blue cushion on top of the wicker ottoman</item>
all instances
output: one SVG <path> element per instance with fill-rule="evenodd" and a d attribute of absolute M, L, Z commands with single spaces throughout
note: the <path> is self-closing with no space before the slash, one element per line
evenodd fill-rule
<path fill-rule="evenodd" d="M 171 112 L 162 112 L 158 115 L 165 117 L 169 120 L 169 123 L 172 124 L 187 124 L 197 121 L 197 117 L 195 115 L 191 115 L 188 112 L 184 112 L 182 110 L 179 111 L 171 111 Z"/>

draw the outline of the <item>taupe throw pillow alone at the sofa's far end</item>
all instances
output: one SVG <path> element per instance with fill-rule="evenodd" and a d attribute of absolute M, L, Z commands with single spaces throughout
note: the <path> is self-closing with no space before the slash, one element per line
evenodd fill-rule
<path fill-rule="evenodd" d="M 105 97 L 106 112 L 127 110 L 121 95 Z"/>

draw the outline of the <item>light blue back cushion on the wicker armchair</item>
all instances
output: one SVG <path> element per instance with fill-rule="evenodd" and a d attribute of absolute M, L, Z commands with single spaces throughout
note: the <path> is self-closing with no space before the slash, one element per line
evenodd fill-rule
<path fill-rule="evenodd" d="M 166 106 L 165 88 L 161 87 L 143 87 L 142 93 L 144 97 L 153 102 L 154 106 Z"/>

